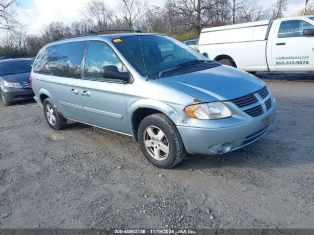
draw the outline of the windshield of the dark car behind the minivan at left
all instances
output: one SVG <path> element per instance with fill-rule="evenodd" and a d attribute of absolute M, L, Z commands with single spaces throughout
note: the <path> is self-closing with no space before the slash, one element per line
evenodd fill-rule
<path fill-rule="evenodd" d="M 31 71 L 33 60 L 20 60 L 0 63 L 0 75 L 25 73 Z"/>

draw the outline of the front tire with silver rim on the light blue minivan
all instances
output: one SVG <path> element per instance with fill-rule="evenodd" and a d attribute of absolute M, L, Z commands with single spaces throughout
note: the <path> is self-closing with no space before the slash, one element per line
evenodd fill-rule
<path fill-rule="evenodd" d="M 158 140 L 162 136 L 162 134 L 158 136 L 160 131 L 164 137 Z M 139 124 L 137 137 L 145 158 L 157 167 L 171 168 L 181 163 L 185 156 L 186 151 L 181 136 L 172 120 L 164 114 L 152 114 L 144 118 Z M 167 148 L 168 153 L 166 153 Z M 158 155 L 160 155 L 159 159 L 157 159 Z"/>

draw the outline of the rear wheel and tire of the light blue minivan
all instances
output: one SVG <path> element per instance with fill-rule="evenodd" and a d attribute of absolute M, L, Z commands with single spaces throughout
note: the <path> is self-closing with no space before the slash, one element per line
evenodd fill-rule
<path fill-rule="evenodd" d="M 44 100 L 43 107 L 46 121 L 52 129 L 60 130 L 67 125 L 67 119 L 58 113 L 50 98 Z"/>

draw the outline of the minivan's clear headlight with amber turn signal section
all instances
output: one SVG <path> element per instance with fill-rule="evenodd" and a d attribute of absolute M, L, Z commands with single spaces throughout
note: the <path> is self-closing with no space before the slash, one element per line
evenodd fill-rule
<path fill-rule="evenodd" d="M 184 108 L 187 116 L 197 119 L 229 118 L 232 113 L 222 102 L 194 104 Z"/>

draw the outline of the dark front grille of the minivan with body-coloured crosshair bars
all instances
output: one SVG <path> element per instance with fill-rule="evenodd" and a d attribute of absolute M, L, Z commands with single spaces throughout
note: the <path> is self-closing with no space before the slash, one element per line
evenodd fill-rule
<path fill-rule="evenodd" d="M 270 93 L 267 87 L 263 87 L 256 93 L 248 94 L 231 101 L 251 117 L 262 115 L 264 110 L 269 110 L 272 107 Z M 265 106 L 262 104 L 262 101 L 264 101 Z"/>

